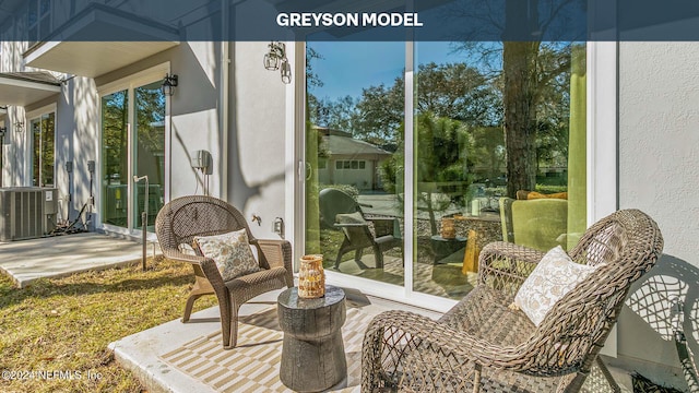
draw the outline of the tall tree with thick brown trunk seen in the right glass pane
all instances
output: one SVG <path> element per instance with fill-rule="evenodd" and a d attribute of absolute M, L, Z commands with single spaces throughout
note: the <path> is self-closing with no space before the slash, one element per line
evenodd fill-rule
<path fill-rule="evenodd" d="M 502 114 L 505 142 L 507 151 L 507 194 L 514 196 L 518 190 L 533 190 L 536 186 L 537 155 L 547 150 L 560 148 L 562 133 L 567 128 L 557 127 L 560 118 L 547 117 L 547 114 L 561 114 L 567 107 L 567 93 L 559 83 L 568 74 L 571 64 L 570 47 L 572 43 L 542 41 L 541 37 L 553 37 L 556 28 L 566 28 L 561 23 L 571 0 L 506 0 L 502 25 L 493 15 L 477 14 L 478 10 L 491 8 L 471 4 L 467 10 L 453 11 L 459 17 L 491 21 L 490 27 L 500 31 L 505 37 L 498 48 L 493 44 L 465 41 L 460 49 L 471 56 L 479 56 L 482 64 L 489 68 L 494 75 L 501 78 Z M 540 5 L 548 12 L 540 17 Z M 557 21 L 558 23 L 553 23 Z M 483 26 L 483 23 L 479 24 Z M 512 40 L 507 38 L 511 37 Z M 531 40 L 513 40 L 532 37 Z M 538 39 L 536 39 L 538 38 Z M 556 110 L 550 110 L 553 106 Z M 555 138 L 540 139 L 540 131 L 558 132 Z M 545 143 L 542 143 L 545 142 Z"/>

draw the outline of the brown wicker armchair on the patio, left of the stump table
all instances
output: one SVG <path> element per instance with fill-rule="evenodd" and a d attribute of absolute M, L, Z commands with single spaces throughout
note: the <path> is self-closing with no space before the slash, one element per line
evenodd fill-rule
<path fill-rule="evenodd" d="M 185 254 L 180 245 L 191 245 L 194 236 L 211 236 L 245 228 L 250 245 L 257 247 L 261 270 L 224 282 L 211 258 Z M 163 254 L 191 263 L 194 286 L 189 294 L 182 322 L 189 321 L 194 301 L 215 294 L 221 309 L 223 346 L 234 348 L 238 336 L 240 305 L 270 290 L 294 286 L 292 246 L 286 240 L 259 240 L 252 236 L 239 211 L 212 196 L 183 196 L 167 203 L 155 219 L 155 233 Z"/>

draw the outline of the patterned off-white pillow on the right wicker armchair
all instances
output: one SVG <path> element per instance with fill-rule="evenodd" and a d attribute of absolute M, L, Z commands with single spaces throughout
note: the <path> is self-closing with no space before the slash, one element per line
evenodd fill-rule
<path fill-rule="evenodd" d="M 538 326 L 556 301 L 597 269 L 573 262 L 558 246 L 548 251 L 514 296 L 514 305 Z"/>

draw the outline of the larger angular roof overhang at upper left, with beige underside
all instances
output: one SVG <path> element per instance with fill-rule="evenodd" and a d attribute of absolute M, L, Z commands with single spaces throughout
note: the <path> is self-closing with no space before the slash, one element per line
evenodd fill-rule
<path fill-rule="evenodd" d="M 24 58 L 29 67 L 95 78 L 175 47 L 179 38 L 174 27 L 93 4 Z"/>

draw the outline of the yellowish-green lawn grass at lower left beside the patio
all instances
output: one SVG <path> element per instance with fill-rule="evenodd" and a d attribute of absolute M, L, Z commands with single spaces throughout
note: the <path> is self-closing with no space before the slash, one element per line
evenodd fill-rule
<path fill-rule="evenodd" d="M 169 260 L 24 289 L 0 274 L 0 391 L 144 392 L 107 345 L 180 318 L 192 282 L 189 265 Z M 215 303 L 204 297 L 196 310 Z"/>

